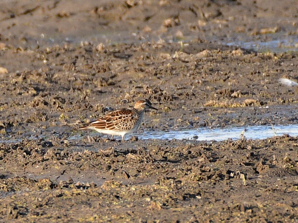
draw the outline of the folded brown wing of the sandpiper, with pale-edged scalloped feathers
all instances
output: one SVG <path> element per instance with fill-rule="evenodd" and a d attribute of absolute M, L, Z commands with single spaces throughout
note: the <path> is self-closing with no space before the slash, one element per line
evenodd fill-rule
<path fill-rule="evenodd" d="M 88 123 L 88 126 L 102 130 L 125 131 L 134 126 L 137 116 L 138 114 L 132 109 L 119 109 Z"/>

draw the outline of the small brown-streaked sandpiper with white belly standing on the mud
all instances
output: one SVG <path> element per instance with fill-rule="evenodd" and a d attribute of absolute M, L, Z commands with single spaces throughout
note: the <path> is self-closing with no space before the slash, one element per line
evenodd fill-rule
<path fill-rule="evenodd" d="M 134 108 L 125 108 L 115 110 L 97 120 L 84 124 L 78 129 L 93 129 L 100 133 L 122 136 L 122 141 L 128 133 L 136 131 L 141 125 L 144 112 L 146 109 L 155 109 L 151 106 L 152 103 L 149 100 L 139 100 L 135 103 Z"/>

